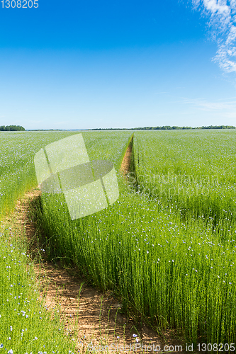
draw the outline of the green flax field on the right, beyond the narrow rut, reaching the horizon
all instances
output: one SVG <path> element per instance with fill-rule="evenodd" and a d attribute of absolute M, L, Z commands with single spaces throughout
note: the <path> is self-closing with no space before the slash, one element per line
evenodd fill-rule
<path fill-rule="evenodd" d="M 235 222 L 236 132 L 136 132 L 130 183 L 182 215 Z"/>

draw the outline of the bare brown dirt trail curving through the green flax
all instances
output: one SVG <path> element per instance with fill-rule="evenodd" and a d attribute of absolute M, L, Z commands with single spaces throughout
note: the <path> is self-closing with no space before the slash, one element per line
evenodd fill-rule
<path fill-rule="evenodd" d="M 132 140 L 125 153 L 120 171 L 126 176 L 130 171 L 130 156 Z M 120 304 L 111 292 L 99 292 L 79 278 L 74 269 L 65 269 L 60 262 L 56 265 L 45 259 L 43 246 L 38 244 L 39 232 L 35 222 L 31 219 L 30 203 L 40 197 L 40 190 L 26 193 L 18 201 L 16 210 L 6 221 L 12 224 L 20 237 L 26 238 L 30 259 L 34 263 L 34 270 L 40 291 L 45 294 L 45 304 L 48 309 L 60 304 L 67 329 L 72 329 L 72 323 L 79 323 L 77 332 L 78 350 L 85 353 L 86 347 L 92 341 L 93 346 L 105 345 L 122 346 L 135 345 L 133 334 L 138 334 L 143 346 L 179 345 L 173 337 L 173 331 L 164 333 L 165 341 L 145 324 L 135 323 L 120 313 Z M 78 311 L 79 303 L 79 311 Z M 74 333 L 73 333 L 74 334 Z M 140 343 L 139 340 L 139 343 Z M 138 346 L 137 346 L 138 347 Z M 130 351 L 130 350 L 129 350 Z M 129 351 L 120 350 L 120 353 Z M 119 350 L 116 352 L 119 353 Z M 140 350 L 137 350 L 140 353 Z M 179 353 L 172 351 L 172 353 Z M 185 353 L 183 350 L 182 353 Z"/>

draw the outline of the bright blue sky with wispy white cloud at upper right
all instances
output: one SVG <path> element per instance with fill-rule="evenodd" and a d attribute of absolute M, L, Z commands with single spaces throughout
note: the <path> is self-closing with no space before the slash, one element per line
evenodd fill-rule
<path fill-rule="evenodd" d="M 0 125 L 236 125 L 235 0 L 8 4 Z"/>

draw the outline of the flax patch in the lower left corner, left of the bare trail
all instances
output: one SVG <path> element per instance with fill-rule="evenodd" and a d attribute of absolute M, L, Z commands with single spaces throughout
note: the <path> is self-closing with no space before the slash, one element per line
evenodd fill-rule
<path fill-rule="evenodd" d="M 52 312 L 43 304 L 33 264 L 17 237 L 8 227 L 0 233 L 0 348 L 13 354 L 72 353 L 76 343 L 64 330 L 60 304 Z"/>

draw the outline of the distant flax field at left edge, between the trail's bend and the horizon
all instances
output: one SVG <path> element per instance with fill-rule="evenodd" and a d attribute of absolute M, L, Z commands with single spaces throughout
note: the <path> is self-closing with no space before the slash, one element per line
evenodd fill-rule
<path fill-rule="evenodd" d="M 71 132 L 0 132 L 0 220 L 26 190 L 37 186 L 33 157 L 50 142 Z"/>

